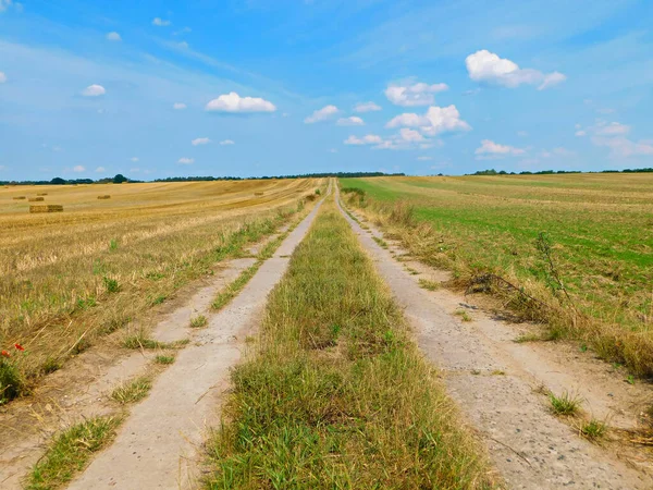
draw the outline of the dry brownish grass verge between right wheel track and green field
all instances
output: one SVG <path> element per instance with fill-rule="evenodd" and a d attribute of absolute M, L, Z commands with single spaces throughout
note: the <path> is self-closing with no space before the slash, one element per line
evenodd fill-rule
<path fill-rule="evenodd" d="M 522 281 L 509 271 L 498 271 L 482 262 L 471 264 L 455 249 L 443 246 L 443 232 L 416 218 L 415 204 L 405 199 L 379 200 L 358 187 L 340 183 L 343 201 L 378 225 L 387 237 L 396 238 L 415 258 L 426 265 L 453 272 L 451 285 L 467 292 L 490 293 L 502 299 L 503 307 L 516 320 L 538 321 L 546 326 L 541 340 L 570 339 L 581 350 L 592 348 L 605 360 L 624 365 L 642 378 L 653 377 L 653 336 L 646 330 L 633 330 L 601 321 L 583 314 L 567 295 L 552 245 L 544 236 L 540 260 L 546 283 Z M 348 211 L 347 211 L 348 212 Z M 551 260 L 547 262 L 547 260 Z"/>

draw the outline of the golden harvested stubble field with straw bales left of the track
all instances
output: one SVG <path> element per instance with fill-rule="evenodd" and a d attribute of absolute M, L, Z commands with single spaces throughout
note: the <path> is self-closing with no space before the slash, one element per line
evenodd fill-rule
<path fill-rule="evenodd" d="M 17 380 L 14 395 L 25 392 L 70 355 L 210 273 L 243 245 L 272 233 L 319 183 L 0 189 L 0 347 L 12 355 L 0 359 L 0 384 Z M 26 201 L 15 200 L 37 192 L 47 193 L 64 211 L 30 215 Z M 264 196 L 254 197 L 261 192 Z M 111 199 L 98 200 L 98 195 Z M 14 343 L 25 352 L 14 350 Z M 0 401 L 10 397 L 0 392 Z"/>

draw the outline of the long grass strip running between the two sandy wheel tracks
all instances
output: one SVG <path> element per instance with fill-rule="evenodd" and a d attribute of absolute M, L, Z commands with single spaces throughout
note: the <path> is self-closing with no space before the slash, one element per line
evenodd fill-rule
<path fill-rule="evenodd" d="M 484 458 L 333 203 L 232 373 L 206 485 L 490 488 Z"/>

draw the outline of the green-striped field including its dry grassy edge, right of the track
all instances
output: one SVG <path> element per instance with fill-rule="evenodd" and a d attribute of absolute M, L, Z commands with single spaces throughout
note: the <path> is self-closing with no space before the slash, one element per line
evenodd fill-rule
<path fill-rule="evenodd" d="M 354 207 L 420 260 L 453 270 L 457 285 L 505 296 L 549 324 L 546 339 L 577 339 L 653 375 L 653 175 L 341 183 Z"/>

